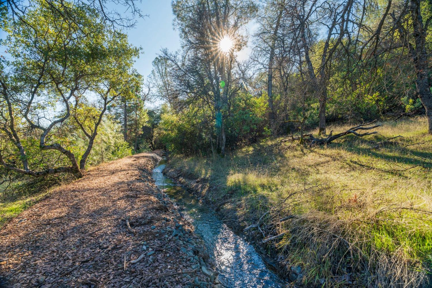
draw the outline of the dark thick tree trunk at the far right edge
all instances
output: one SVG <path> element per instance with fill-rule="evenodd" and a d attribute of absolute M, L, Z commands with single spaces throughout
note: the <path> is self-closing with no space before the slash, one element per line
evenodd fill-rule
<path fill-rule="evenodd" d="M 426 109 L 428 118 L 428 132 L 432 134 L 432 94 L 428 79 L 428 58 L 426 52 L 426 31 L 423 27 L 423 19 L 420 10 L 420 0 L 411 0 L 411 19 L 413 20 L 413 37 L 416 43 L 415 49 L 409 45 L 411 58 L 416 71 L 416 91 Z"/>

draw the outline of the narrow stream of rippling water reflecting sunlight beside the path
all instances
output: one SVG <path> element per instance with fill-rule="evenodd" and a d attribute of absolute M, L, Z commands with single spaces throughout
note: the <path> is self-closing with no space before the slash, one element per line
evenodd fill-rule
<path fill-rule="evenodd" d="M 166 160 L 153 169 L 156 185 L 184 206 L 183 216 L 190 217 L 206 248 L 216 263 L 219 280 L 227 288 L 287 287 L 255 248 L 235 234 L 216 214 L 182 186 L 162 174 Z"/>

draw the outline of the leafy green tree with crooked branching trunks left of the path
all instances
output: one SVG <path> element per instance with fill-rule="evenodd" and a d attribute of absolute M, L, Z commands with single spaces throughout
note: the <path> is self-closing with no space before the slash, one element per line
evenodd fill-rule
<path fill-rule="evenodd" d="M 138 51 L 127 44 L 126 35 L 108 29 L 91 7 L 57 4 L 67 6 L 75 19 L 70 22 L 52 5 L 40 1 L 19 19 L 6 15 L 1 21 L 1 29 L 9 33 L 2 45 L 11 59 L 0 62 L 0 163 L 32 176 L 66 172 L 81 177 L 106 106 L 127 81 L 128 68 Z M 84 109 L 93 95 L 100 96 L 102 103 L 96 114 L 94 109 Z M 80 111 L 92 111 L 94 121 L 79 115 Z M 70 125 L 71 115 L 89 138 L 79 165 L 76 155 L 65 146 L 67 139 L 58 134 Z M 60 152 L 59 157 L 66 157 L 69 166 L 32 167 L 28 135 L 39 138 L 40 150 Z"/>

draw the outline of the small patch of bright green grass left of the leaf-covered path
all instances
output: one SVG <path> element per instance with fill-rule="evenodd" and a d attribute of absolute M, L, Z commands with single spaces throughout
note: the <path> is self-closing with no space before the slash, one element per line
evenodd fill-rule
<path fill-rule="evenodd" d="M 47 194 L 48 192 L 44 192 L 33 195 L 32 197 L 25 197 L 12 202 L 0 203 L 0 228 L 22 211 L 35 205 Z"/>

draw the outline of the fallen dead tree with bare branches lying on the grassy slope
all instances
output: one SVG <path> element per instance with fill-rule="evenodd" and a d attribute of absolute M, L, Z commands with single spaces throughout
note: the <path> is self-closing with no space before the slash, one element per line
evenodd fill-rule
<path fill-rule="evenodd" d="M 379 134 L 378 131 L 365 132 L 365 133 L 357 132 L 357 131 L 363 131 L 363 130 L 371 130 L 371 129 L 380 127 L 382 125 L 382 124 L 372 125 L 375 122 L 377 122 L 377 120 L 349 128 L 348 130 L 346 130 L 344 132 L 334 134 L 334 135 L 333 135 L 333 131 L 330 131 L 330 134 L 327 136 L 327 138 L 315 138 L 313 134 L 304 134 L 303 137 L 291 136 L 291 140 L 302 140 L 303 139 L 303 141 L 305 141 L 305 143 L 309 144 L 310 146 L 314 146 L 314 145 L 329 144 L 331 141 L 334 141 L 337 138 L 340 138 L 340 137 L 348 135 L 348 134 L 354 134 L 358 137 L 363 137 L 363 136 L 372 135 L 372 134 Z"/>

